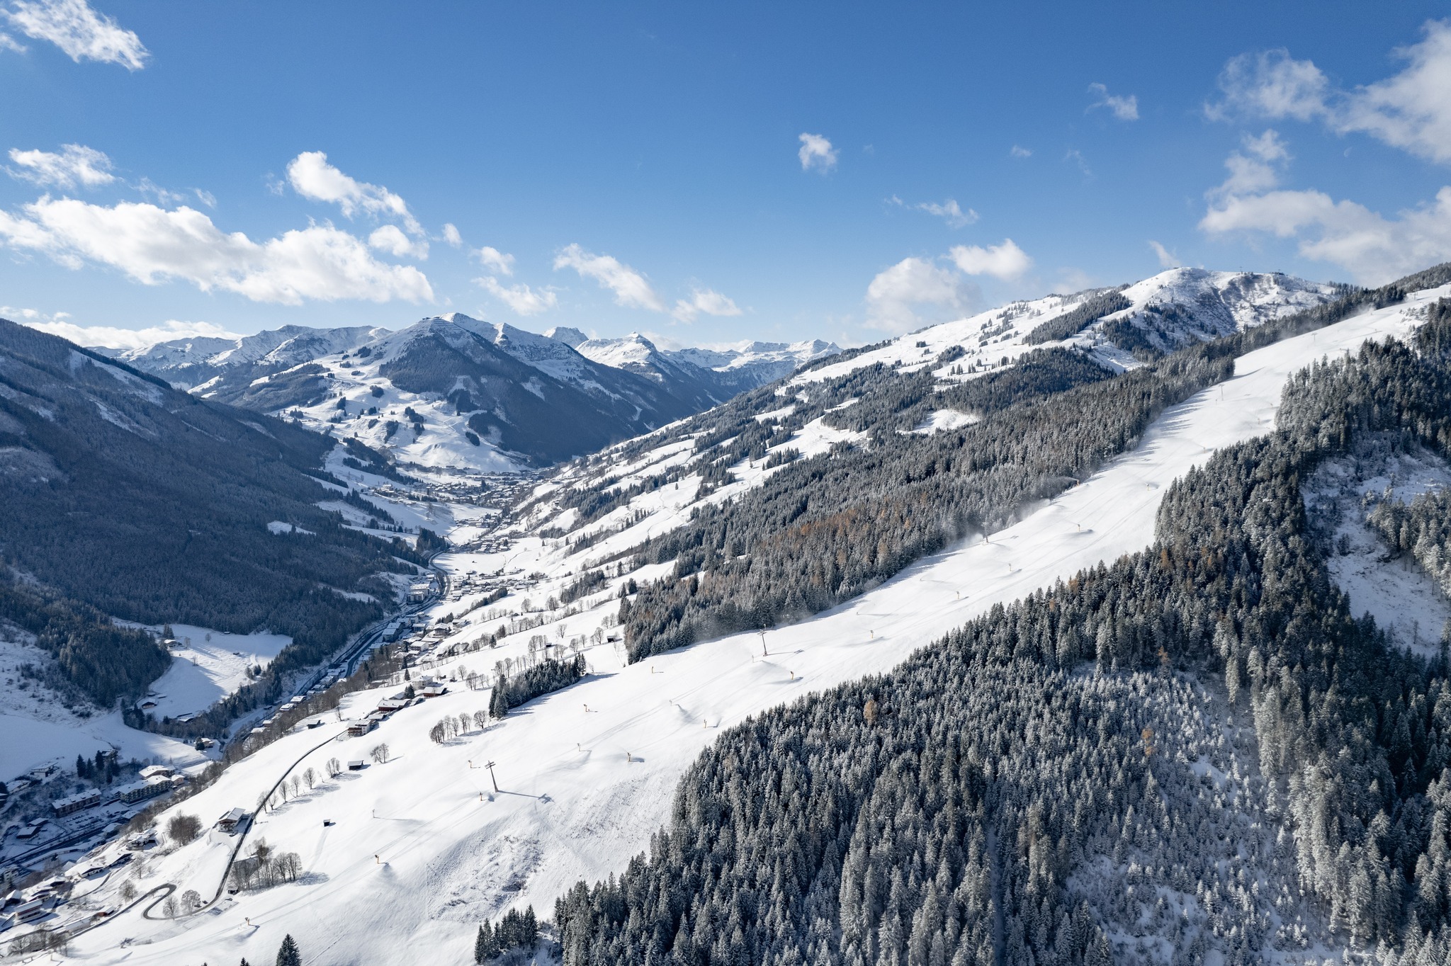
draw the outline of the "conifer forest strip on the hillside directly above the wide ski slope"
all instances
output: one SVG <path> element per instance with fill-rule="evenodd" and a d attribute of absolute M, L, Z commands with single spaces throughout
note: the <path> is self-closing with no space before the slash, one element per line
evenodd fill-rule
<path fill-rule="evenodd" d="M 801 619 L 955 540 L 991 534 L 1030 502 L 1061 493 L 1132 448 L 1165 408 L 1226 379 L 1233 357 L 1394 302 L 1405 287 L 1406 280 L 1374 292 L 1345 290 L 1326 305 L 1196 342 L 1117 376 L 1090 354 L 1049 348 L 946 386 L 939 367 L 952 364 L 950 352 L 911 373 L 876 364 L 823 380 L 797 396 L 789 424 L 817 416 L 859 434 L 859 442 L 795 461 L 640 547 L 637 563 L 673 561 L 675 570 L 621 606 L 630 653 L 638 659 Z M 1084 305 L 1098 312 L 1104 299 Z M 752 402 L 743 397 L 740 408 Z M 913 431 L 929 425 L 934 412 L 969 413 L 974 422 Z M 720 437 L 727 438 L 717 442 Z M 720 429 L 695 441 L 708 454 L 707 483 L 728 479 L 726 467 L 737 460 L 763 460 L 784 437 L 789 432 L 779 422 L 723 419 Z M 715 457 L 711 447 L 724 455 Z M 685 471 L 675 470 L 676 479 Z M 585 502 L 582 511 L 580 519 L 588 519 L 595 506 Z"/>

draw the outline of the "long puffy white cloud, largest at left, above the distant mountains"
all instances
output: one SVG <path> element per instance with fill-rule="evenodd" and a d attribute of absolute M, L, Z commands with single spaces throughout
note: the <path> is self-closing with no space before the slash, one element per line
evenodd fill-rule
<path fill-rule="evenodd" d="M 266 242 L 222 232 L 192 207 L 167 210 L 123 202 L 112 207 L 42 197 L 15 216 L 0 210 L 0 239 L 62 265 L 110 265 L 142 284 L 181 278 L 203 292 L 235 292 L 254 302 L 300 305 L 316 299 L 431 300 L 428 278 L 389 265 L 364 242 L 331 225 L 289 231 Z"/>

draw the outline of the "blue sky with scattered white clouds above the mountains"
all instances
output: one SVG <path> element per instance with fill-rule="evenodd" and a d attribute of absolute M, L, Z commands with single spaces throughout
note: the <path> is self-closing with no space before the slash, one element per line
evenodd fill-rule
<path fill-rule="evenodd" d="M 93 344 L 447 310 L 846 344 L 1161 265 L 1451 258 L 1442 4 L 0 10 L 0 306 Z"/>

